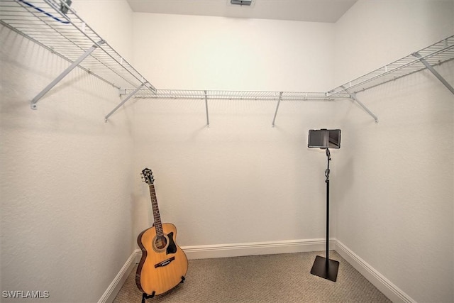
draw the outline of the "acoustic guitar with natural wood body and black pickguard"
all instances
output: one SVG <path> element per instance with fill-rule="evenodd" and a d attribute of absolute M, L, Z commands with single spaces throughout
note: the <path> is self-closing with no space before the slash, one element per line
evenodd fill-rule
<path fill-rule="evenodd" d="M 142 258 L 135 274 L 135 284 L 144 295 L 154 296 L 171 290 L 184 280 L 187 272 L 187 257 L 175 243 L 177 237 L 175 225 L 161 223 L 153 172 L 145 168 L 142 171 L 142 178 L 150 187 L 155 224 L 142 231 L 137 237 Z"/>

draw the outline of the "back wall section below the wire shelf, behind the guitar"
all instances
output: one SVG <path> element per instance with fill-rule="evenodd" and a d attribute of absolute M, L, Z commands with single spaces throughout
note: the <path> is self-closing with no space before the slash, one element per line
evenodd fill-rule
<path fill-rule="evenodd" d="M 306 137 L 337 126 L 318 117 L 330 106 L 282 102 L 272 128 L 275 102 L 210 101 L 206 128 L 203 101 L 135 104 L 136 170 L 154 170 L 162 218 L 179 228 L 180 245 L 323 238 L 326 155 Z M 138 190 L 147 211 L 148 190 Z"/>

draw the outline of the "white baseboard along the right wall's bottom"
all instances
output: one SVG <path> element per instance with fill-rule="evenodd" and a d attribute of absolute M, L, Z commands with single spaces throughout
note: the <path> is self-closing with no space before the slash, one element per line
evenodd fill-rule
<path fill-rule="evenodd" d="M 416 303 L 408 294 L 399 289 L 399 287 L 375 270 L 375 268 L 372 268 L 365 260 L 362 260 L 362 258 L 353 253 L 353 251 L 343 245 L 341 241 L 336 240 L 336 251 L 392 302 Z"/>

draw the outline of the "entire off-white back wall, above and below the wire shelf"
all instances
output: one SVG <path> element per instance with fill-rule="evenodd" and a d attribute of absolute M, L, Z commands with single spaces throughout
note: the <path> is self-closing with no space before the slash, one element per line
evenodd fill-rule
<path fill-rule="evenodd" d="M 158 88 L 323 90 L 333 25 L 134 14 L 134 58 Z M 150 37 L 150 38 L 145 38 Z M 336 127 L 327 102 L 138 100 L 135 170 L 155 172 L 180 246 L 323 238 L 326 156 L 307 130 Z M 137 231 L 150 226 L 150 197 Z"/>

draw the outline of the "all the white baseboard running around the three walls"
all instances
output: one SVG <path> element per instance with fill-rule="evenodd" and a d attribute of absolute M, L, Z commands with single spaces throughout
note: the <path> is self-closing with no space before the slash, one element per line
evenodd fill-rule
<path fill-rule="evenodd" d="M 392 282 L 387 280 L 380 272 L 372 268 L 362 260 L 352 250 L 347 248 L 340 241 L 331 238 L 329 241 L 330 250 L 336 250 L 350 265 L 353 266 L 361 275 L 363 275 L 372 285 L 375 285 L 380 292 L 386 295 L 394 303 L 416 303 L 408 294 L 399 289 Z M 209 259 L 209 258 L 228 258 L 243 255 L 271 255 L 277 253 L 304 253 L 309 251 L 325 250 L 325 239 L 308 239 L 308 240 L 287 240 L 287 241 L 268 241 L 253 243 L 233 243 L 217 244 L 204 246 L 182 246 L 189 260 Z M 123 283 L 126 281 L 129 273 L 133 270 L 136 263 L 140 261 L 142 253 L 136 249 L 131 253 L 126 263 L 121 268 L 114 281 L 104 292 L 98 303 L 113 302 L 116 294 L 120 291 Z"/>

